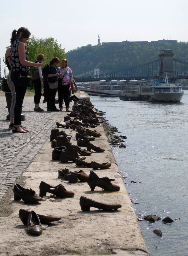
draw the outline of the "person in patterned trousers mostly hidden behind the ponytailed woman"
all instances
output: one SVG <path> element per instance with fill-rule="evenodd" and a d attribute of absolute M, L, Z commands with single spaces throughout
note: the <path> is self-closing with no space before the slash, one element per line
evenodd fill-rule
<path fill-rule="evenodd" d="M 12 41 L 10 41 L 11 45 L 13 44 Z M 7 84 L 8 84 L 8 87 L 10 89 L 10 92 L 11 92 L 11 106 L 10 106 L 10 125 L 8 127 L 8 130 L 12 130 L 13 129 L 13 125 L 14 125 L 14 106 L 15 106 L 15 103 L 16 103 L 16 94 L 15 94 L 15 87 L 14 87 L 14 83 L 13 81 L 11 80 L 11 67 L 10 67 L 10 48 L 11 48 L 11 45 L 10 47 L 7 48 L 6 50 L 6 53 L 5 53 L 5 62 L 6 62 L 6 65 L 7 65 L 7 68 L 9 70 L 9 74 L 8 74 L 8 79 L 7 79 Z"/>

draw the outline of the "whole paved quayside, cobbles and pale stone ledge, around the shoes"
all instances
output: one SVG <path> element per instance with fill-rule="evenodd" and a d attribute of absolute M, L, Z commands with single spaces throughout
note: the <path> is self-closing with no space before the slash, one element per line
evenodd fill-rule
<path fill-rule="evenodd" d="M 84 92 L 75 94 L 79 98 L 88 97 Z M 43 98 L 41 98 L 41 101 Z M 73 102 L 70 103 L 70 109 Z M 126 191 L 111 147 L 105 136 L 102 125 L 95 129 L 102 134 L 93 143 L 105 149 L 103 153 L 92 152 L 85 161 L 99 163 L 110 162 L 109 169 L 97 169 L 94 172 L 101 178 L 108 176 L 115 179 L 114 184 L 120 186 L 118 192 L 104 191 L 96 187 L 94 191 L 86 182 L 68 183 L 58 178 L 58 169 L 68 168 L 70 171 L 81 169 L 89 175 L 91 168 L 76 166 L 75 163 L 61 163 L 52 160 L 50 142 L 51 129 L 57 129 L 56 122 L 63 123 L 67 116 L 63 112 L 46 112 L 46 103 L 40 104 L 45 111 L 34 112 L 33 97 L 25 97 L 23 102 L 25 121 L 22 125 L 29 129 L 27 134 L 12 133 L 8 130 L 9 121 L 5 96 L 0 94 L 0 255 L 149 255 L 135 216 L 131 200 Z M 58 105 L 57 105 L 58 106 Z M 59 130 L 72 135 L 71 143 L 77 145 L 76 131 Z M 72 198 L 58 198 L 55 201 L 40 201 L 38 204 L 25 204 L 15 201 L 14 183 L 25 188 L 32 188 L 39 195 L 40 182 L 52 186 L 63 184 L 75 193 Z M 49 193 L 47 193 L 49 195 Z M 81 211 L 80 196 L 103 203 L 119 203 L 122 208 L 117 211 L 102 211 L 96 208 Z M 39 237 L 27 233 L 19 219 L 19 209 L 34 210 L 37 214 L 62 217 L 62 223 L 54 222 L 43 230 Z"/>

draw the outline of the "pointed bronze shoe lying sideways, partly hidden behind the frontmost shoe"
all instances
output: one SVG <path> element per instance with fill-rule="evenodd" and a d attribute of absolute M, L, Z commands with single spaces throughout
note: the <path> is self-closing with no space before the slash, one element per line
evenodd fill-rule
<path fill-rule="evenodd" d="M 19 218 L 23 222 L 23 225 L 27 225 L 27 219 L 29 214 L 30 214 L 30 211 L 28 210 L 24 210 L 24 209 L 19 210 Z M 39 216 L 39 220 L 42 224 L 47 224 L 53 221 L 61 220 L 61 217 L 56 217 L 53 215 L 46 215 L 46 216 L 40 215 L 40 214 L 37 214 L 37 215 Z"/>

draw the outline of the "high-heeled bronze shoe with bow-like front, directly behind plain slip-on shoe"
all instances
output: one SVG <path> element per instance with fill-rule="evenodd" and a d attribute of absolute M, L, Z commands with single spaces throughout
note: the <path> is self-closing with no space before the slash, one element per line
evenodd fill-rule
<path fill-rule="evenodd" d="M 119 191 L 120 187 L 111 183 L 111 181 L 114 180 L 115 179 L 109 179 L 108 177 L 99 178 L 96 173 L 90 171 L 87 183 L 91 191 L 93 191 L 95 187 L 103 188 L 106 191 Z"/>

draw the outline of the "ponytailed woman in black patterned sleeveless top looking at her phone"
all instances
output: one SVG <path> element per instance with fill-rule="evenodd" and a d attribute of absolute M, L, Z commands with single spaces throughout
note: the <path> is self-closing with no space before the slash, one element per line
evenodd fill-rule
<path fill-rule="evenodd" d="M 21 125 L 21 111 L 23 99 L 26 93 L 26 87 L 18 86 L 18 77 L 29 75 L 29 67 L 40 67 L 43 63 L 35 63 L 27 60 L 27 52 L 25 43 L 30 37 L 31 33 L 27 28 L 21 27 L 12 32 L 11 41 L 14 42 L 10 48 L 10 65 L 11 65 L 11 80 L 14 82 L 16 91 L 16 104 L 14 108 L 14 125 L 13 132 L 27 133 L 29 132 Z"/>

